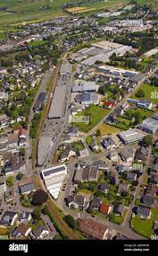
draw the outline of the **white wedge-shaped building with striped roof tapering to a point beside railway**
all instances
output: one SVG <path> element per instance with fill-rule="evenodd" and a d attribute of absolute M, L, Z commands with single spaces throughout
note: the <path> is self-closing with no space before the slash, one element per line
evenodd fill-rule
<path fill-rule="evenodd" d="M 53 166 L 42 171 L 42 176 L 46 184 L 46 189 L 57 199 L 62 188 L 62 181 L 67 174 L 67 167 L 65 164 Z"/>

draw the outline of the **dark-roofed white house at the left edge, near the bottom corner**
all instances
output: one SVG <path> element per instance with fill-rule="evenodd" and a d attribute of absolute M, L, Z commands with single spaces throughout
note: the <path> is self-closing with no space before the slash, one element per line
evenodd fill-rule
<path fill-rule="evenodd" d="M 14 225 L 18 214 L 13 211 L 6 211 L 4 215 L 1 217 L 0 225 L 11 226 Z"/>

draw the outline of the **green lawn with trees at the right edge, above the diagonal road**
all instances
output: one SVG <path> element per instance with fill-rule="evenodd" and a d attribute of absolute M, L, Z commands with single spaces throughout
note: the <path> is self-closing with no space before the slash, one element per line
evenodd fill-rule
<path fill-rule="evenodd" d="M 142 86 L 139 89 L 142 89 L 145 92 L 145 96 L 142 98 L 146 98 L 146 100 L 152 101 L 155 104 L 158 104 L 158 97 L 154 97 L 154 98 L 152 97 L 152 93 L 158 92 L 158 88 L 156 86 L 149 85 L 149 84 L 142 84 Z M 141 99 L 141 98 L 137 98 L 136 93 L 134 93 L 130 98 Z"/>

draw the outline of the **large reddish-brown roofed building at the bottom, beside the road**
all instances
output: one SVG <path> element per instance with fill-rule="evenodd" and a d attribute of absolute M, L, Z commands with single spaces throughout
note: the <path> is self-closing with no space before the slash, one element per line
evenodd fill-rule
<path fill-rule="evenodd" d="M 98 240 L 107 239 L 107 235 L 109 234 L 109 229 L 105 225 L 91 219 L 79 220 L 79 230 Z"/>

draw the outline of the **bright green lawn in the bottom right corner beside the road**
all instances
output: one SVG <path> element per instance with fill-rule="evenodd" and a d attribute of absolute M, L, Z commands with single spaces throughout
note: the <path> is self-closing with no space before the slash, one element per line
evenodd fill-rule
<path fill-rule="evenodd" d="M 138 216 L 132 216 L 131 227 L 133 230 L 137 232 L 137 234 L 141 234 L 150 238 L 151 235 L 154 234 L 153 225 L 154 221 L 152 219 L 141 219 Z"/>

